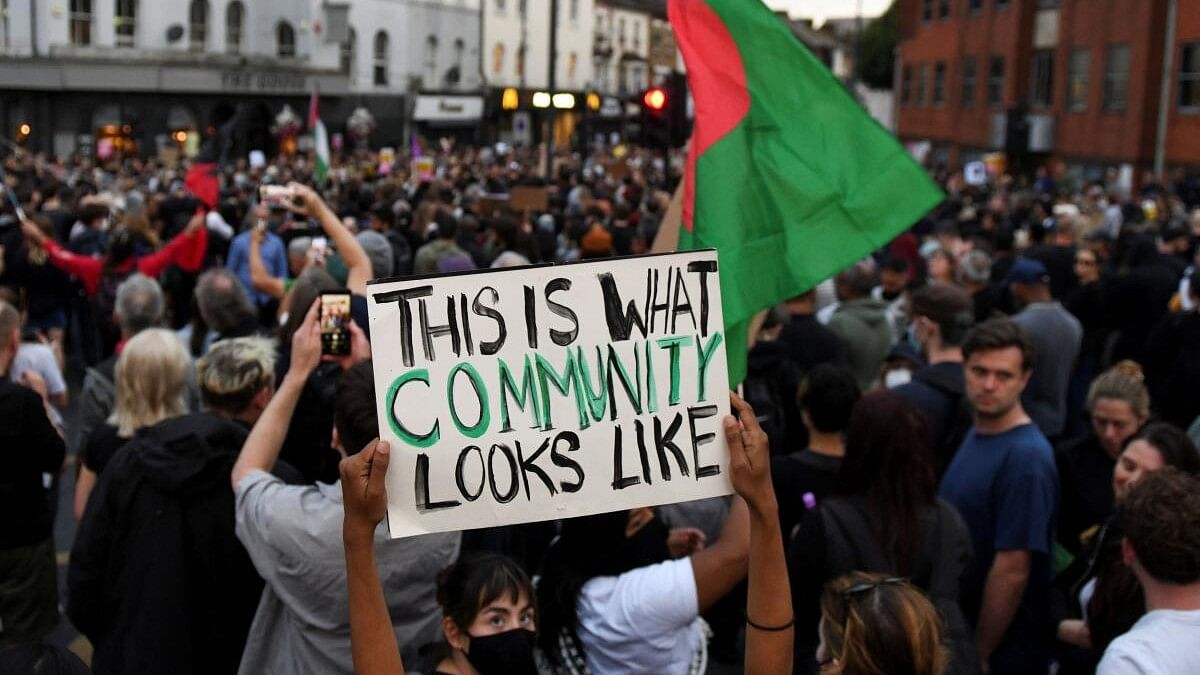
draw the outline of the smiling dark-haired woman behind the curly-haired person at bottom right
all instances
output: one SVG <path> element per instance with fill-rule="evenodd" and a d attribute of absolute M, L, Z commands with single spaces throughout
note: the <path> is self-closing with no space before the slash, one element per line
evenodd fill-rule
<path fill-rule="evenodd" d="M 1126 442 L 1112 468 L 1115 501 L 1147 473 L 1168 466 L 1200 474 L 1200 450 L 1177 428 L 1148 424 Z M 1109 643 L 1145 613 L 1141 587 L 1122 562 L 1121 538 L 1110 516 L 1055 583 L 1051 629 L 1058 639 L 1060 675 L 1093 673 Z"/>

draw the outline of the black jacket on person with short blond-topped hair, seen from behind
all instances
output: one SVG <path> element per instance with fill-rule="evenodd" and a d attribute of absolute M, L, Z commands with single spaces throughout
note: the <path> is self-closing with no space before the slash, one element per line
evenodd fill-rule
<path fill-rule="evenodd" d="M 92 671 L 236 673 L 263 581 L 234 536 L 247 430 L 209 413 L 143 429 L 109 462 L 71 551 L 67 614 Z"/>

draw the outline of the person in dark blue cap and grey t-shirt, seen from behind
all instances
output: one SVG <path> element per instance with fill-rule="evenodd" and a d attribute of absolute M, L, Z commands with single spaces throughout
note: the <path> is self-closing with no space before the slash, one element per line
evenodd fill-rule
<path fill-rule="evenodd" d="M 1033 342 L 1033 375 L 1021 394 L 1021 404 L 1054 442 L 1067 424 L 1067 387 L 1079 359 L 1084 328 L 1051 297 L 1050 275 L 1038 261 L 1018 258 L 1004 283 L 1021 307 L 1013 321 Z"/>

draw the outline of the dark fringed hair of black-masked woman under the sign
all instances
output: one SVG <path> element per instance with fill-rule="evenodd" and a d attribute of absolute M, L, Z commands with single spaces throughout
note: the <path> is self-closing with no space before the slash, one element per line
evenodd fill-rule
<path fill-rule="evenodd" d="M 464 552 L 438 574 L 438 604 L 442 615 L 467 628 L 475 616 L 493 601 L 503 597 L 517 602 L 521 593 L 536 602 L 533 583 L 517 562 L 493 552 Z M 536 615 L 536 604 L 534 615 Z"/>

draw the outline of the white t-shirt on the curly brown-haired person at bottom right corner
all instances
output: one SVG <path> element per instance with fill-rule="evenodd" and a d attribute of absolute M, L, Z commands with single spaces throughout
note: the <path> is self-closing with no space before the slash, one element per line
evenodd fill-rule
<path fill-rule="evenodd" d="M 1109 645 L 1097 675 L 1200 673 L 1200 609 L 1157 609 Z"/>

